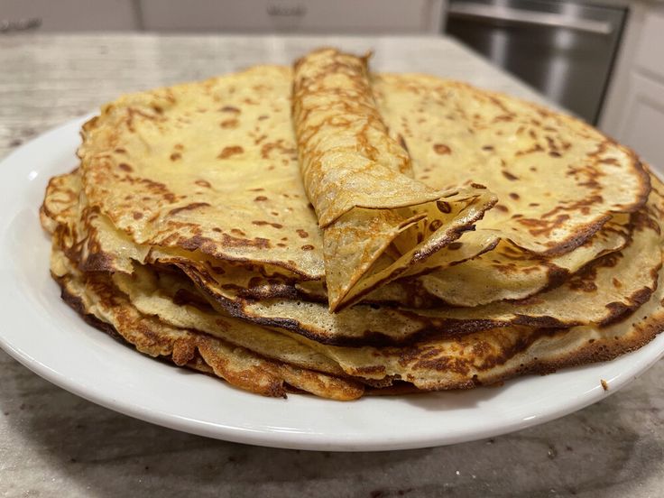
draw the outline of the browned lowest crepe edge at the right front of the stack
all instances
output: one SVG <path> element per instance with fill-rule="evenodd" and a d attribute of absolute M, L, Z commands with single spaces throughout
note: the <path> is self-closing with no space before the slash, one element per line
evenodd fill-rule
<path fill-rule="evenodd" d="M 647 303 L 605 327 L 509 327 L 384 348 L 325 346 L 300 340 L 337 360 L 347 374 L 391 378 L 412 383 L 420 391 L 439 391 L 609 361 L 645 346 L 662 331 L 664 275 Z"/>

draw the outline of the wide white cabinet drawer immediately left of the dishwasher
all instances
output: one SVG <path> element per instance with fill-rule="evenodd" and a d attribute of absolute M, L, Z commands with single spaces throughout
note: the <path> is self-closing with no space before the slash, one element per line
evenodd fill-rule
<path fill-rule="evenodd" d="M 141 0 L 153 31 L 439 32 L 443 0 Z"/>

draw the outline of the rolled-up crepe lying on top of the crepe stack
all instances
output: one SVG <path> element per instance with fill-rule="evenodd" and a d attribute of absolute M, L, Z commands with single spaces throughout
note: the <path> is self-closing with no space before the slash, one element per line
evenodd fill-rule
<path fill-rule="evenodd" d="M 481 185 L 440 191 L 412 178 L 408 152 L 375 105 L 368 57 L 323 49 L 295 63 L 293 123 L 331 311 L 435 267 L 496 201 Z"/>

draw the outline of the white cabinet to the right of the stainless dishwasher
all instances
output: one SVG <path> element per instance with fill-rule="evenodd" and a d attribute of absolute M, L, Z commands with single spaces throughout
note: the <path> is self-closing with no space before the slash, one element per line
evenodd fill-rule
<path fill-rule="evenodd" d="M 664 5 L 631 10 L 600 127 L 664 173 Z"/>

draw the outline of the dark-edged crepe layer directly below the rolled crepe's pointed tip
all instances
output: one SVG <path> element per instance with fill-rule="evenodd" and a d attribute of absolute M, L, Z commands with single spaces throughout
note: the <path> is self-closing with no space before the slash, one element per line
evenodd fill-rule
<path fill-rule="evenodd" d="M 209 275 L 183 270 L 221 309 L 266 326 L 284 327 L 325 344 L 399 344 L 426 335 L 447 336 L 511 324 L 573 327 L 608 324 L 638 309 L 655 289 L 661 266 L 659 227 L 639 219 L 634 242 L 608 254 L 560 287 L 526 300 L 475 308 L 404 309 L 356 305 L 330 314 L 324 305 L 268 299 L 234 303 Z M 615 281 L 613 281 L 615 279 Z"/>

